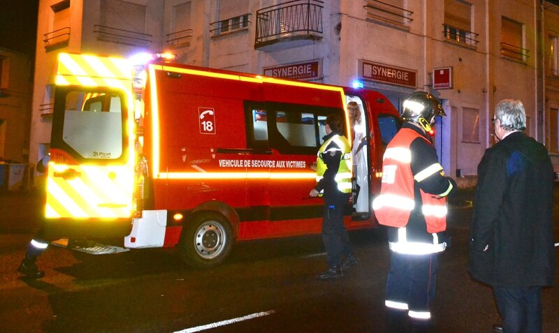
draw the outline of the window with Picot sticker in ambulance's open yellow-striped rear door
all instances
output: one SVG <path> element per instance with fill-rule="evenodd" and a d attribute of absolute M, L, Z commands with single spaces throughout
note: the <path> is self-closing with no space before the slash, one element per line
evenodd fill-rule
<path fill-rule="evenodd" d="M 62 140 L 82 158 L 120 158 L 124 127 L 121 98 L 101 91 L 68 92 Z"/>

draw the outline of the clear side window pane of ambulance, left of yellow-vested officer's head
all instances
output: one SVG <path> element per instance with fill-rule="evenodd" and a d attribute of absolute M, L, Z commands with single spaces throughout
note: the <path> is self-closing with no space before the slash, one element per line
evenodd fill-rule
<path fill-rule="evenodd" d="M 305 112 L 276 112 L 279 133 L 296 147 L 317 147 L 314 131 L 314 114 Z"/>

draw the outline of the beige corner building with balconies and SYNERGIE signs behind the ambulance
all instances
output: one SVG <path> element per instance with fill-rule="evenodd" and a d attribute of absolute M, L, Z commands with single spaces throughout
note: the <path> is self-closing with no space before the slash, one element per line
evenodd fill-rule
<path fill-rule="evenodd" d="M 559 170 L 559 6 L 543 0 L 41 0 L 30 163 L 48 153 L 59 52 L 179 62 L 337 85 L 356 80 L 396 108 L 440 98 L 435 146 L 458 181 L 493 143 L 493 107 L 523 101 L 526 133 Z M 557 155 L 557 156 L 556 156 Z"/>

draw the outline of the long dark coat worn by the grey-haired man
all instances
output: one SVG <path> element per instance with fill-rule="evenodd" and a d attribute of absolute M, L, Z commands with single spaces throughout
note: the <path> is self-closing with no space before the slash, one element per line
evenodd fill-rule
<path fill-rule="evenodd" d="M 511 133 L 486 150 L 477 175 L 470 274 L 491 286 L 551 286 L 554 185 L 544 145 Z"/>

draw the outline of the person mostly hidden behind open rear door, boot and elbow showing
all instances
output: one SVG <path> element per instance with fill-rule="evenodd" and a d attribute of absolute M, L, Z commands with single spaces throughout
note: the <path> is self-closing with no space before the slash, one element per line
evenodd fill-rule
<path fill-rule="evenodd" d="M 37 172 L 44 173 L 47 170 L 50 155 L 47 155 L 38 161 L 36 165 Z M 27 279 L 41 279 L 45 276 L 45 272 L 40 271 L 35 263 L 38 256 L 41 256 L 48 247 L 48 240 L 43 237 L 43 228 L 41 228 L 31 242 L 27 244 L 27 252 L 23 258 L 20 267 L 17 267 L 17 272 L 20 272 Z"/>

